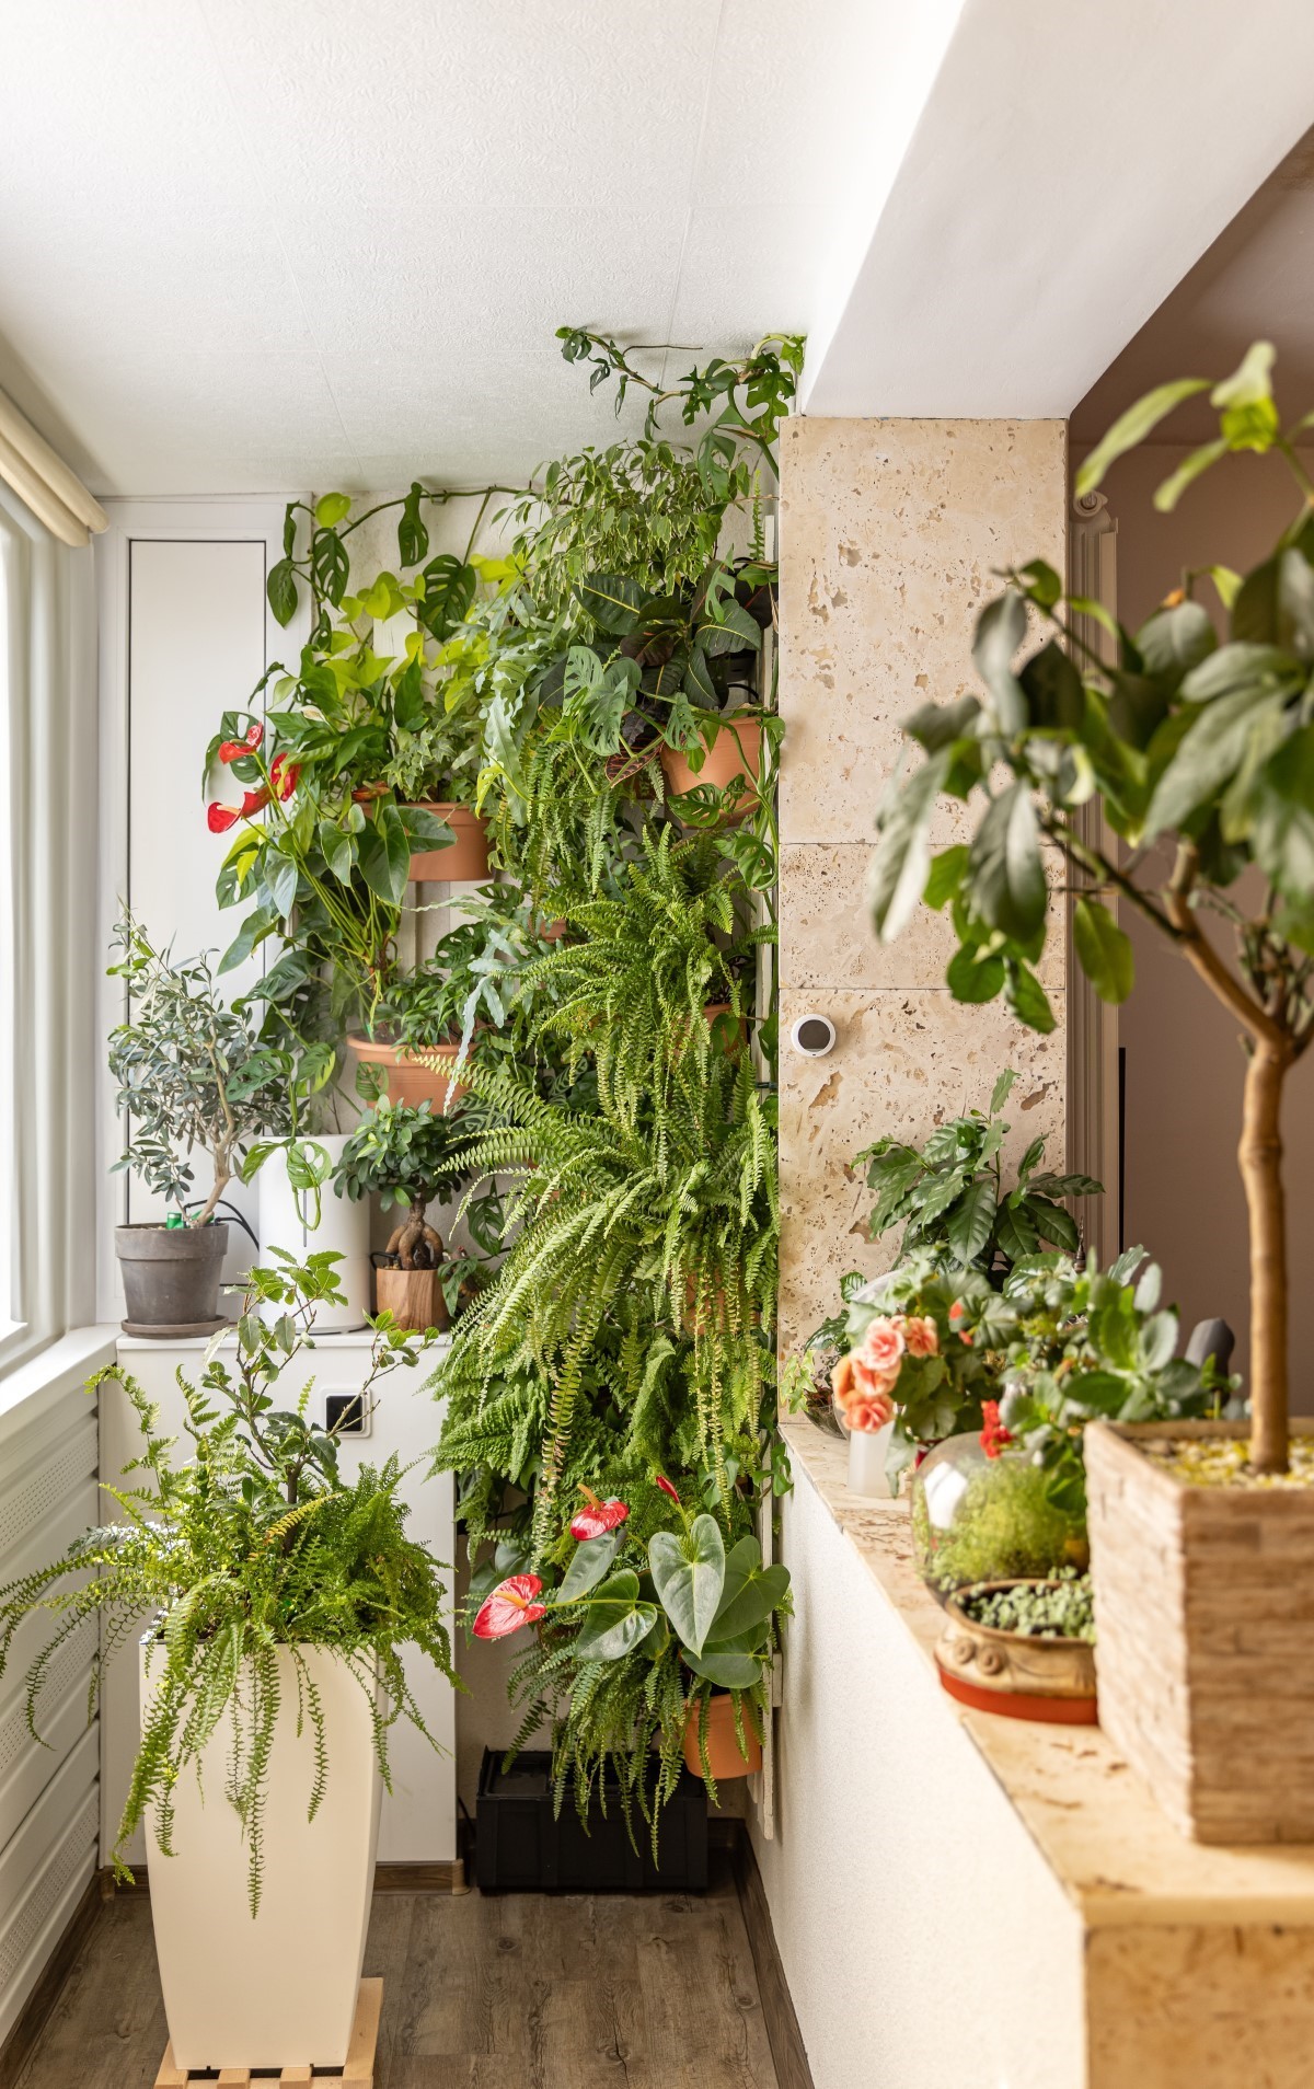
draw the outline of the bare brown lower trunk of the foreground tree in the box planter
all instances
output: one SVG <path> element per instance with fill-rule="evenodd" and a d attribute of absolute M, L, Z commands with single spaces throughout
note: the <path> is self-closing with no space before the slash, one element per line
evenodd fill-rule
<path fill-rule="evenodd" d="M 1287 1471 L 1287 1203 L 1283 1197 L 1283 1082 L 1291 1053 L 1256 1040 L 1245 1074 L 1241 1180 L 1249 1212 L 1249 1458 Z"/>

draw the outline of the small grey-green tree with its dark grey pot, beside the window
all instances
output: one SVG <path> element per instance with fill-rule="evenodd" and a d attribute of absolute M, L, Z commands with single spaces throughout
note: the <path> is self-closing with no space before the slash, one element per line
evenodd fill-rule
<path fill-rule="evenodd" d="M 259 1049 L 244 1003 L 215 994 L 207 957 L 178 963 L 157 950 L 130 913 L 115 928 L 121 953 L 111 978 L 127 982 L 130 1013 L 109 1038 L 109 1070 L 130 1168 L 165 1197 L 165 1220 L 115 1228 L 132 1335 L 209 1333 L 219 1322 L 219 1276 L 228 1222 L 217 1210 L 228 1184 L 261 1141 L 290 1132 L 286 1067 Z M 192 1153 L 207 1155 L 211 1180 L 194 1197 Z"/>

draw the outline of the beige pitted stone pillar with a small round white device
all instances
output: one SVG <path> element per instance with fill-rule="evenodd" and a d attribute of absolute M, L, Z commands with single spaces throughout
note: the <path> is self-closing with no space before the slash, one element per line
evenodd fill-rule
<path fill-rule="evenodd" d="M 1042 978 L 1049 1038 L 1003 1001 L 961 1007 L 944 986 L 953 942 L 930 911 L 882 948 L 865 913 L 871 817 L 905 746 L 900 719 L 971 687 L 971 627 L 996 568 L 1063 570 L 1061 422 L 811 420 L 781 441 L 781 1327 L 806 1335 L 838 1278 L 888 1266 L 863 1235 L 869 1193 L 846 1170 L 884 1132 L 923 1139 L 1022 1074 L 1013 1139 L 1063 1157 L 1063 946 Z M 913 750 L 915 752 L 915 750 Z M 955 808 L 932 840 L 963 840 Z M 834 1053 L 788 1044 L 806 1011 L 831 1017 Z"/>

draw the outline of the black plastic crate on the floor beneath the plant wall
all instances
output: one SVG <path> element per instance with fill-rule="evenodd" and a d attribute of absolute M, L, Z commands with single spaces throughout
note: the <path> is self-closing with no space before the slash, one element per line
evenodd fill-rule
<path fill-rule="evenodd" d="M 704 1893 L 708 1882 L 708 1794 L 702 1778 L 679 1774 L 662 1807 L 658 1861 L 652 1830 L 635 1813 L 625 1832 L 620 1790 L 608 1786 L 606 1815 L 593 1799 L 585 1834 L 574 1794 L 552 1811 L 552 1755 L 529 1748 L 510 1769 L 485 1748 L 478 1771 L 474 1876 L 480 1893 Z"/>

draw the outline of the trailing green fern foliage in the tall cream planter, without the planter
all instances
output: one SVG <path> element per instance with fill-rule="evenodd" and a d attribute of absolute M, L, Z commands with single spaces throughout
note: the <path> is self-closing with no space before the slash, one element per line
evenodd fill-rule
<path fill-rule="evenodd" d="M 23 1621 L 33 1611 L 56 1619 L 27 1671 L 36 1738 L 52 1663 L 84 1619 L 102 1619 L 92 1709 L 109 1657 L 140 1632 L 142 1619 L 155 1621 L 163 1667 L 119 1822 L 115 1870 L 132 1876 L 119 1853 L 146 1807 L 155 1809 L 161 1853 L 171 1855 L 173 1788 L 198 1771 L 207 1742 L 228 1721 L 226 1799 L 249 1851 L 253 1916 L 280 1709 L 278 1650 L 292 1657 L 297 1673 L 297 1732 L 309 1728 L 311 1820 L 330 1776 L 332 1734 L 303 1648 L 338 1654 L 359 1684 L 384 1784 L 389 1728 L 405 1717 L 426 1732 L 401 1648 L 418 1646 L 451 1677 L 445 1588 L 428 1548 L 405 1535 L 397 1458 L 345 1479 L 334 1433 L 307 1418 L 309 1385 L 297 1408 L 276 1406 L 278 1377 L 309 1347 L 315 1304 L 341 1304 L 332 1268 L 341 1258 L 320 1253 L 297 1264 L 274 1253 L 278 1268 L 247 1278 L 234 1366 L 211 1345 L 198 1383 L 180 1372 L 192 1456 L 178 1462 L 175 1439 L 159 1433 L 159 1412 L 134 1379 L 119 1366 L 98 1372 L 90 1389 L 115 1379 L 144 1439 L 123 1473 L 140 1479 L 104 1489 L 123 1521 L 86 1531 L 63 1558 L 0 1588 L 0 1675 Z M 420 1345 L 420 1337 L 380 1320 L 363 1398 L 382 1370 L 412 1362 Z"/>

